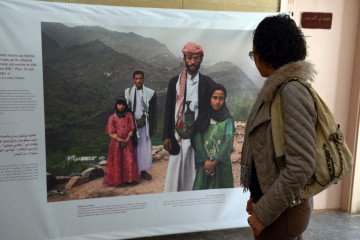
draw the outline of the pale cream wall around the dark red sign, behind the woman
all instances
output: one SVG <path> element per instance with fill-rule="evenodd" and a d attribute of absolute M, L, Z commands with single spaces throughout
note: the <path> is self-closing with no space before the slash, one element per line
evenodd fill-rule
<path fill-rule="evenodd" d="M 340 123 L 348 132 L 351 87 L 358 29 L 359 0 L 287 0 L 281 2 L 281 12 L 292 11 L 300 26 L 301 12 L 333 14 L 332 27 L 302 29 L 309 46 L 308 60 L 316 65 L 318 76 L 313 84 Z M 355 107 L 356 108 L 356 107 Z M 351 129 L 349 129 L 351 130 Z M 330 187 L 314 198 L 315 209 L 340 209 L 342 184 Z"/>

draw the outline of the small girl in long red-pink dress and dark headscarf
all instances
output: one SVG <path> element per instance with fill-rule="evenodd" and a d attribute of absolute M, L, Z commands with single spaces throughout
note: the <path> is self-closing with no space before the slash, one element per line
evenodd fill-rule
<path fill-rule="evenodd" d="M 124 97 L 116 100 L 114 109 L 105 132 L 111 141 L 103 184 L 123 187 L 140 180 L 132 140 L 135 123 Z"/>

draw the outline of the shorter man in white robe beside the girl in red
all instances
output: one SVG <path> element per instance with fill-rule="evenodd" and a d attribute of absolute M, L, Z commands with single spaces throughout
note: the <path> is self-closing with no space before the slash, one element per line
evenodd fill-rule
<path fill-rule="evenodd" d="M 125 98 L 135 118 L 137 167 L 143 179 L 151 180 L 152 176 L 146 170 L 152 167 L 151 136 L 156 133 L 157 102 L 155 91 L 145 87 L 144 80 L 144 72 L 136 70 L 133 73 L 134 86 L 125 90 Z"/>

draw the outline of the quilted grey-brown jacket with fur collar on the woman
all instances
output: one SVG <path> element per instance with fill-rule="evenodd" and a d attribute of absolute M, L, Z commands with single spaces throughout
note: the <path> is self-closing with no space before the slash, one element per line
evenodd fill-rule
<path fill-rule="evenodd" d="M 281 91 L 282 113 L 286 141 L 286 168 L 279 174 L 274 161 L 271 134 L 271 101 L 281 83 L 291 77 L 312 80 L 313 65 L 301 61 L 276 70 L 264 83 L 252 109 L 253 118 L 247 123 L 249 152 L 255 163 L 263 196 L 254 207 L 259 220 L 266 226 L 296 201 L 300 190 L 312 176 L 316 164 L 316 110 L 308 90 L 296 81 L 285 84 Z M 256 106 L 258 105 L 258 106 Z M 255 112 L 254 112 L 255 111 Z M 247 148 L 247 149 L 246 149 Z"/>

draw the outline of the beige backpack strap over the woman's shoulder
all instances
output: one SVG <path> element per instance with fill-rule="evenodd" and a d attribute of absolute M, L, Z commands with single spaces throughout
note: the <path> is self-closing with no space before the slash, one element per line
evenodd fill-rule
<path fill-rule="evenodd" d="M 283 116 L 281 111 L 281 90 L 285 86 L 286 83 L 291 81 L 298 81 L 302 85 L 304 85 L 307 89 L 309 89 L 309 84 L 304 80 L 292 77 L 284 81 L 275 97 L 271 103 L 271 133 L 273 138 L 274 150 L 275 150 L 275 162 L 278 166 L 280 172 L 285 168 L 285 134 L 284 134 L 284 124 L 283 124 Z"/>

